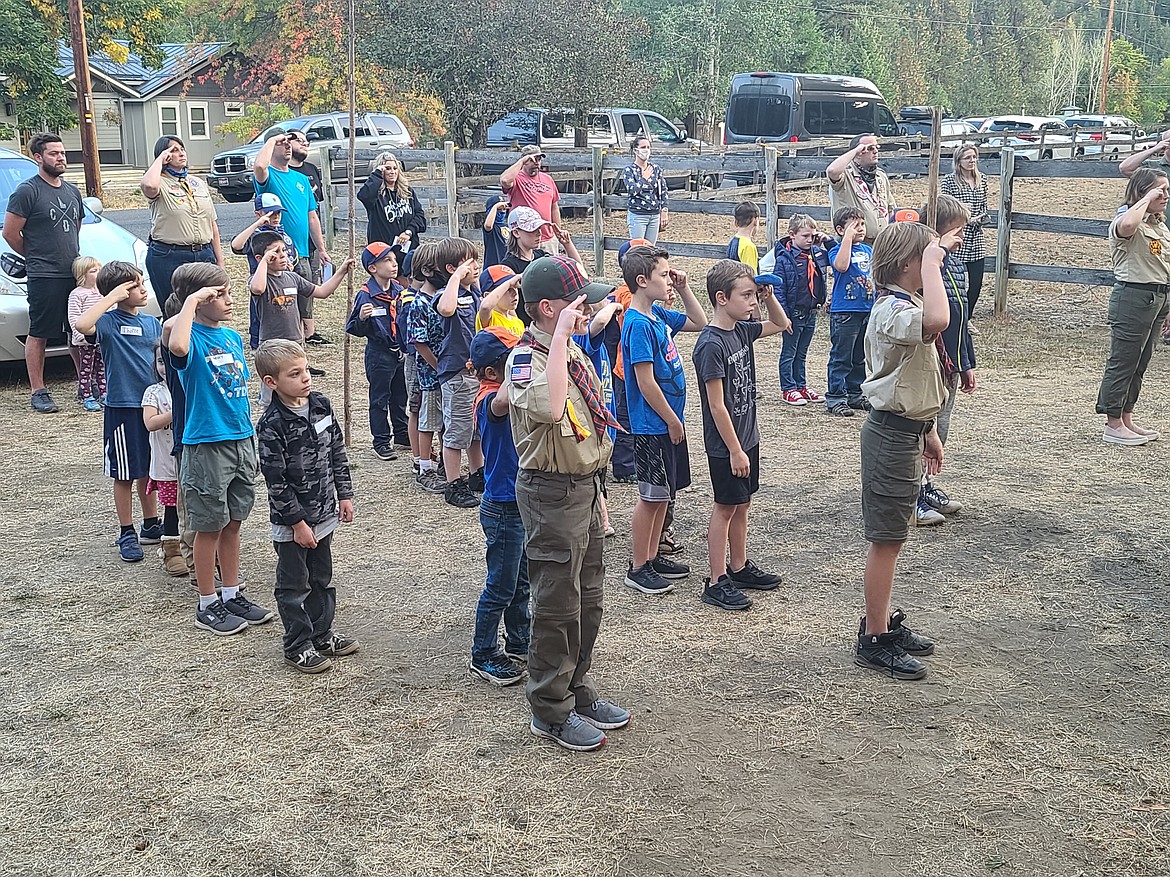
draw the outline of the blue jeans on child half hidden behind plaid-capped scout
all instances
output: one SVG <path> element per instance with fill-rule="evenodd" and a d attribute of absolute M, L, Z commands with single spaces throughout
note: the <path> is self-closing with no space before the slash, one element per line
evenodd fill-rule
<path fill-rule="evenodd" d="M 500 650 L 500 619 L 509 650 L 528 651 L 532 615 L 528 608 L 528 555 L 524 522 L 516 503 L 480 500 L 480 525 L 487 538 L 488 580 L 475 607 L 472 657 L 486 658 Z"/>

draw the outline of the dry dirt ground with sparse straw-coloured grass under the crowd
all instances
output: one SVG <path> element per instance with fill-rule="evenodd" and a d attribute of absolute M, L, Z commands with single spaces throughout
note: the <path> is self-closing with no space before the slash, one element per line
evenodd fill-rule
<path fill-rule="evenodd" d="M 1110 216 L 1121 200 L 1120 181 L 1031 182 L 1017 209 Z M 675 222 L 675 240 L 729 234 Z M 1106 264 L 1099 242 L 1034 237 L 1021 261 Z M 34 416 L 7 372 L 0 873 L 1170 873 L 1170 441 L 1100 441 L 1107 295 L 1013 284 L 1010 319 L 990 292 L 980 306 L 980 386 L 941 479 L 966 507 L 911 536 L 895 591 L 938 640 L 923 683 L 852 665 L 861 420 L 783 408 L 778 344 L 757 347 L 750 543 L 785 583 L 742 615 L 698 601 L 711 497 L 687 339 L 695 486 L 676 529 L 694 575 L 662 599 L 621 585 L 634 491 L 615 486 L 594 675 L 634 719 L 587 755 L 534 739 L 519 688 L 469 676 L 477 517 L 373 456 L 357 346 L 358 519 L 335 562 L 338 627 L 363 650 L 318 678 L 281 665 L 278 622 L 208 637 L 186 581 L 152 555 L 121 564 L 99 417 Z M 344 302 L 318 309 L 340 408 Z M 827 348 L 823 324 L 815 387 Z M 1168 379 L 1170 348 L 1141 403 L 1170 428 Z M 70 398 L 63 368 L 51 388 Z M 270 602 L 264 503 L 261 486 L 243 558 Z"/>

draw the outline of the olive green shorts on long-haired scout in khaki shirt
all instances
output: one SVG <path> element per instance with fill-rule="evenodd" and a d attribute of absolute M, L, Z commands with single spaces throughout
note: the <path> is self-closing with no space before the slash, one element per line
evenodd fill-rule
<path fill-rule="evenodd" d="M 861 427 L 861 518 L 866 540 L 904 543 L 922 489 L 921 433 L 881 422 L 872 412 Z"/>

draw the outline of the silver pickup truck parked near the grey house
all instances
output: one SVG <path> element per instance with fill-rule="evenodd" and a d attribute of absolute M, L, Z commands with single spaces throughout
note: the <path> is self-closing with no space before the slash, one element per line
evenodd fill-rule
<path fill-rule="evenodd" d="M 373 160 L 386 150 L 411 149 L 414 138 L 406 130 L 402 120 L 388 112 L 359 112 L 355 127 L 355 157 L 359 177 L 373 170 Z M 350 145 L 350 115 L 347 112 L 326 112 L 316 116 L 301 116 L 273 125 L 246 146 L 220 152 L 212 159 L 212 170 L 207 174 L 207 185 L 216 189 L 225 201 L 247 201 L 252 199 L 252 166 L 260 153 L 264 140 L 284 131 L 301 131 L 309 138 L 309 146 Z M 404 164 L 406 170 L 413 164 Z"/>

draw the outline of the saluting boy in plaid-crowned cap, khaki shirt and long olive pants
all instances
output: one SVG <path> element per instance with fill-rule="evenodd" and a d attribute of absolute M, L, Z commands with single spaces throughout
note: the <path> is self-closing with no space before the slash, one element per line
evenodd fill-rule
<path fill-rule="evenodd" d="M 525 693 L 532 733 L 583 752 L 629 721 L 589 677 L 605 582 L 598 472 L 613 451 L 607 430 L 619 427 L 593 365 L 572 340 L 589 324 L 584 305 L 613 286 L 590 283 L 576 262 L 559 256 L 532 262 L 521 284 L 532 324 L 508 358 L 504 389 L 532 588 Z"/>

